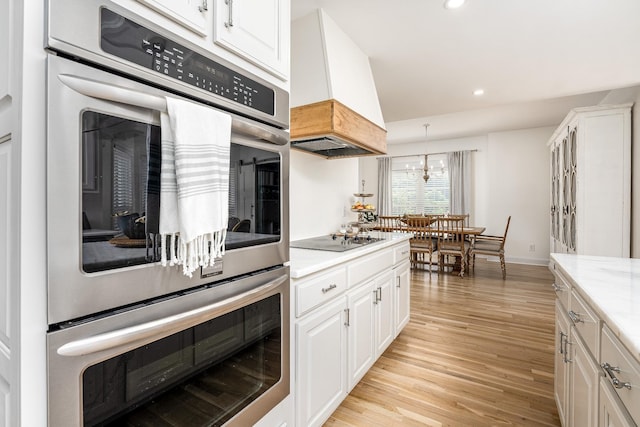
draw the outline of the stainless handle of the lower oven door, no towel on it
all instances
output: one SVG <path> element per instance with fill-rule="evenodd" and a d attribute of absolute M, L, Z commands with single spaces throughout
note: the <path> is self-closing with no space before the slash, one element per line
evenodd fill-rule
<path fill-rule="evenodd" d="M 184 313 L 69 342 L 58 348 L 58 354 L 84 356 L 149 338 L 156 340 L 169 336 L 213 317 L 242 308 L 246 305 L 247 299 L 255 299 L 271 292 L 288 277 L 284 274 L 250 291 Z"/>

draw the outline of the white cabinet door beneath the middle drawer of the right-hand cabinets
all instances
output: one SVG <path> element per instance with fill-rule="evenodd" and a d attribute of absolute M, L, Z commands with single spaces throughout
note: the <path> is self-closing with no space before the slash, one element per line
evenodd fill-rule
<path fill-rule="evenodd" d="M 598 378 L 600 370 L 578 336 L 571 328 L 571 374 L 569 384 L 569 419 L 576 427 L 598 425 Z"/>

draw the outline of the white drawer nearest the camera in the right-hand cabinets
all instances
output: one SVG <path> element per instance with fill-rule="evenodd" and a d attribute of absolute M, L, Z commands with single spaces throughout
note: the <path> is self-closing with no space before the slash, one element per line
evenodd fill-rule
<path fill-rule="evenodd" d="M 605 369 L 605 364 L 610 367 L 609 371 Z M 603 368 L 606 380 L 613 386 L 633 421 L 640 424 L 640 405 L 638 405 L 640 402 L 640 363 L 633 358 L 606 326 L 602 327 L 600 366 Z M 612 375 L 619 381 L 618 386 L 614 384 Z"/>

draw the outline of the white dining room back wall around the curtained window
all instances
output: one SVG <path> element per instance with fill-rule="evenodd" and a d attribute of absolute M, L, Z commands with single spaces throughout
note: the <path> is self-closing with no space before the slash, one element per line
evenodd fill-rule
<path fill-rule="evenodd" d="M 502 234 L 509 262 L 546 264 L 549 259 L 549 150 L 555 128 L 545 127 L 446 141 L 390 144 L 389 156 L 477 150 L 473 154 L 471 222 Z M 377 160 L 360 159 L 361 177 L 377 182 Z M 377 192 L 377 188 L 374 192 Z M 530 246 L 535 251 L 530 251 Z"/>

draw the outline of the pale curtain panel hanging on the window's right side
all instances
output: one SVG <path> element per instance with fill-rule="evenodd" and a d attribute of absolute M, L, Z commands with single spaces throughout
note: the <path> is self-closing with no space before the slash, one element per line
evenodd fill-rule
<path fill-rule="evenodd" d="M 471 152 L 454 151 L 448 154 L 449 212 L 468 214 L 471 209 Z"/>

